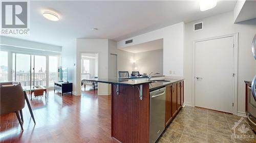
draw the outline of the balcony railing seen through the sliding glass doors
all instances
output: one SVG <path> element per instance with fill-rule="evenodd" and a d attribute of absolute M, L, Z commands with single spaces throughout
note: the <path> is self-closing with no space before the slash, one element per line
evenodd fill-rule
<path fill-rule="evenodd" d="M 35 75 L 35 76 L 34 76 Z M 46 73 L 45 72 L 37 72 L 31 75 L 31 83 L 35 85 L 44 85 L 46 86 Z M 8 73 L 0 72 L 1 81 L 8 81 Z M 12 81 L 15 80 L 15 73 L 12 74 Z M 57 72 L 49 72 L 49 87 L 53 86 L 54 81 L 58 80 Z M 19 81 L 22 85 L 28 86 L 30 85 L 30 72 L 16 72 L 16 81 Z"/>

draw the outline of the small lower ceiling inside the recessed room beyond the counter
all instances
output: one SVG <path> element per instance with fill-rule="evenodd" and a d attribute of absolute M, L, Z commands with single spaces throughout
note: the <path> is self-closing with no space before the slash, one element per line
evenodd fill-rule
<path fill-rule="evenodd" d="M 150 42 L 145 42 L 145 43 L 125 47 L 120 50 L 138 53 L 138 52 L 152 51 L 157 49 L 163 49 L 163 39 L 158 39 Z"/>

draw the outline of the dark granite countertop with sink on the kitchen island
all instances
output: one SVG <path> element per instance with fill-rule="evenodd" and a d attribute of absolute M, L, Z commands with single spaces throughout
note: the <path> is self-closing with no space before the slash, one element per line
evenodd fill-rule
<path fill-rule="evenodd" d="M 110 78 L 99 78 L 99 79 L 83 79 L 83 80 L 88 80 L 88 81 L 95 81 L 95 82 L 101 82 L 101 83 L 109 83 L 109 84 L 120 84 L 120 85 L 129 85 L 129 86 L 134 86 L 134 85 L 139 85 L 143 83 L 150 83 L 150 91 L 159 89 L 161 87 L 164 87 L 165 85 L 172 84 L 178 81 L 183 80 L 183 78 L 168 78 L 168 77 L 162 77 L 158 79 L 152 79 L 152 80 L 168 80 L 168 82 L 152 82 L 148 81 L 146 79 L 110 79 Z"/>

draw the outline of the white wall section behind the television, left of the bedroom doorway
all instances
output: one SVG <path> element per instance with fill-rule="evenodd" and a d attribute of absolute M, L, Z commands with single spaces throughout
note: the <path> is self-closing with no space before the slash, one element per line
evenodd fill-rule
<path fill-rule="evenodd" d="M 73 94 L 77 95 L 76 39 L 71 40 L 69 44 L 62 47 L 61 66 L 63 68 L 68 68 L 68 81 L 73 83 Z"/>

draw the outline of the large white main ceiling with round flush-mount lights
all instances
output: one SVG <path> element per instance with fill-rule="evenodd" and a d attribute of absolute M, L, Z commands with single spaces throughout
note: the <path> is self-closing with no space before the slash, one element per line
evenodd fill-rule
<path fill-rule="evenodd" d="M 30 36 L 16 38 L 63 46 L 76 38 L 120 41 L 181 21 L 232 11 L 236 1 L 218 1 L 201 12 L 199 1 L 30 1 Z M 42 16 L 55 10 L 59 21 Z M 92 28 L 98 31 L 92 31 Z"/>

